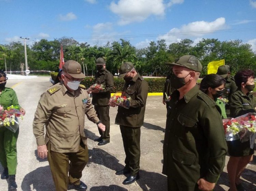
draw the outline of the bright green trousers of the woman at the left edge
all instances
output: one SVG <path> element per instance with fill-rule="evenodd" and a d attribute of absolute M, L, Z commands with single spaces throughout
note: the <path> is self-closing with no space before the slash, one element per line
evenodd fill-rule
<path fill-rule="evenodd" d="M 0 127 L 0 162 L 3 168 L 8 167 L 9 175 L 16 174 L 18 135 L 19 128 L 13 133 L 6 127 Z"/>

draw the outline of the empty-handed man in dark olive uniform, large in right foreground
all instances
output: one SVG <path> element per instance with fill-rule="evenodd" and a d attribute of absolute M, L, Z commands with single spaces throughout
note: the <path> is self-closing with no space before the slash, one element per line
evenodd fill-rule
<path fill-rule="evenodd" d="M 168 190 L 212 190 L 227 151 L 221 115 L 214 100 L 198 89 L 202 65 L 195 56 L 169 64 L 176 90 L 167 111 L 162 173 Z"/>

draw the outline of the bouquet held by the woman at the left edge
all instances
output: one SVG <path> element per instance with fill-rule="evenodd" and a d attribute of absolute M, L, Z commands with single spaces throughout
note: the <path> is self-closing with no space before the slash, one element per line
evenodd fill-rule
<path fill-rule="evenodd" d="M 17 117 L 23 119 L 23 115 L 16 106 L 11 105 L 7 109 L 3 109 L 0 105 L 0 128 L 4 126 L 15 133 L 19 128 Z"/>

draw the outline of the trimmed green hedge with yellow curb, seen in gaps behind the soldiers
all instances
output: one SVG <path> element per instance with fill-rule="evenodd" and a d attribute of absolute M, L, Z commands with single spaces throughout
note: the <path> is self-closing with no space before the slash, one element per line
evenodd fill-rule
<path fill-rule="evenodd" d="M 56 76 L 58 75 L 58 72 L 51 72 L 52 79 L 55 80 Z M 145 80 L 148 83 L 148 92 L 163 92 L 163 86 L 165 84 L 165 77 L 159 77 L 159 78 L 147 78 L 145 77 Z M 90 87 L 93 85 L 94 77 L 86 77 L 81 84 L 85 85 L 85 87 Z M 117 77 L 114 77 L 114 86 L 115 86 L 115 92 L 122 91 L 123 87 L 125 85 L 125 81 L 123 79 L 118 79 Z"/>

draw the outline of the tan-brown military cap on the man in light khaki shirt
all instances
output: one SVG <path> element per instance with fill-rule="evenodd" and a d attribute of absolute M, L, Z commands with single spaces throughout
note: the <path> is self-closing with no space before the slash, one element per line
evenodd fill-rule
<path fill-rule="evenodd" d="M 81 72 L 81 65 L 75 60 L 68 60 L 65 62 L 62 70 L 74 78 L 85 78 L 85 75 Z"/>

